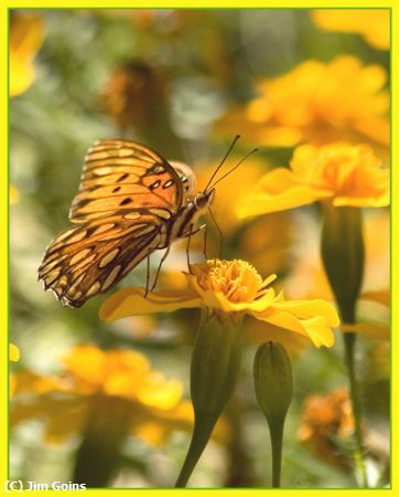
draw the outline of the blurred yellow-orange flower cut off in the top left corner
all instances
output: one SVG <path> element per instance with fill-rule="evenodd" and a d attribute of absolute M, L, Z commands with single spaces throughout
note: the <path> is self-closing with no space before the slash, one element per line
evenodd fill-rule
<path fill-rule="evenodd" d="M 13 13 L 10 27 L 10 96 L 24 93 L 33 83 L 34 57 L 43 43 L 43 21 L 35 13 Z"/>

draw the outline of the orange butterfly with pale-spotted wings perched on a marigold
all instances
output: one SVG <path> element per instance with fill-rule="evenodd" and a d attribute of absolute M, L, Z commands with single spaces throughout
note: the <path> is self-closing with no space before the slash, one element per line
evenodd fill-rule
<path fill-rule="evenodd" d="M 194 230 L 213 201 L 209 183 L 197 192 L 188 166 L 138 142 L 96 141 L 69 210 L 75 226 L 51 242 L 39 268 L 44 289 L 69 307 L 108 292 L 152 252 L 203 228 Z"/>

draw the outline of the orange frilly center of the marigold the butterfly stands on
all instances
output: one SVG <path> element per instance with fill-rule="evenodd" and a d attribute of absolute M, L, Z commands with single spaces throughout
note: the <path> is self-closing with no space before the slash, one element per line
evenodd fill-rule
<path fill-rule="evenodd" d="M 204 290 L 220 292 L 231 303 L 252 302 L 263 287 L 257 271 L 240 260 L 209 260 L 194 264 L 192 271 Z"/>

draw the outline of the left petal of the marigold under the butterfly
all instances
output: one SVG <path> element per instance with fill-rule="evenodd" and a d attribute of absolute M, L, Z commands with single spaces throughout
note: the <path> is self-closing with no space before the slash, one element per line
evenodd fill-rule
<path fill-rule="evenodd" d="M 149 292 L 147 297 L 144 297 L 144 288 L 122 288 L 101 305 L 100 319 L 115 321 L 128 316 L 171 313 L 202 306 L 201 298 L 190 290 Z"/>

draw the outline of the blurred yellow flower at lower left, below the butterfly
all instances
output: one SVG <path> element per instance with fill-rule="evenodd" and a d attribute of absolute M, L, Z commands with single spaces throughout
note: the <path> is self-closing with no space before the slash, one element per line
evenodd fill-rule
<path fill-rule="evenodd" d="M 126 411 L 131 433 L 151 444 L 163 443 L 175 430 L 192 429 L 192 405 L 182 399 L 180 381 L 152 370 L 139 352 L 83 345 L 71 351 L 65 366 L 57 377 L 15 373 L 13 425 L 44 420 L 47 441 L 60 442 L 80 433 L 94 409 L 115 404 Z"/>

